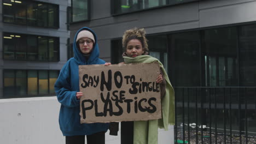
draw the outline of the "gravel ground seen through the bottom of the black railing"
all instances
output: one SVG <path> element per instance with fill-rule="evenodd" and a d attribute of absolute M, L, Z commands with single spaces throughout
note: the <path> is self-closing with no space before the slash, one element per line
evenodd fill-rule
<path fill-rule="evenodd" d="M 211 134 L 211 142 L 210 142 L 210 133 L 208 131 L 203 131 L 203 142 L 201 141 L 201 131 L 197 131 L 197 142 L 196 142 L 196 131 L 195 130 L 191 130 L 190 131 L 190 144 L 199 144 L 199 143 L 205 143 L 205 144 L 213 144 L 216 143 L 216 134 L 214 132 L 212 132 Z M 181 131 L 178 131 L 178 143 L 183 143 L 182 141 L 179 140 L 183 140 L 183 134 L 181 134 Z M 224 144 L 226 141 L 226 144 L 240 144 L 240 135 L 235 135 L 232 134 L 232 142 L 230 143 L 230 134 L 226 133 L 226 140 L 224 140 L 224 133 L 217 133 L 217 144 Z M 247 137 L 247 142 L 246 142 L 246 136 L 245 135 L 241 135 L 242 137 L 242 144 L 256 144 L 256 136 L 248 136 Z M 188 131 L 185 131 L 185 143 L 188 143 Z"/>

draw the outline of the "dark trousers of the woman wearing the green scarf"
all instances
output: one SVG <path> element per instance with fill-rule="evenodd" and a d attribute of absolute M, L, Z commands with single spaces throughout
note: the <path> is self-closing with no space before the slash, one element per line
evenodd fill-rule
<path fill-rule="evenodd" d="M 121 122 L 121 144 L 133 144 L 133 122 Z"/>

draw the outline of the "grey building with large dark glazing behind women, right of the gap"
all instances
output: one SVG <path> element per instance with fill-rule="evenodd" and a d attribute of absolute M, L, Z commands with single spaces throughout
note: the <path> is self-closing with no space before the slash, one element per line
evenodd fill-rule
<path fill-rule="evenodd" d="M 100 57 L 113 64 L 122 61 L 124 31 L 146 29 L 149 54 L 164 64 L 176 89 L 178 126 L 255 134 L 255 0 L 73 0 L 72 5 L 70 42 L 80 27 L 94 29 Z"/>

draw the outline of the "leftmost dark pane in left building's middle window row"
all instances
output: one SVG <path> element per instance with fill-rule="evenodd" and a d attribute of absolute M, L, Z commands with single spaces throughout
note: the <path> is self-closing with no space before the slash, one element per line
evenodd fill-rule
<path fill-rule="evenodd" d="M 10 33 L 3 33 L 3 58 L 14 59 L 15 58 L 15 35 Z"/>

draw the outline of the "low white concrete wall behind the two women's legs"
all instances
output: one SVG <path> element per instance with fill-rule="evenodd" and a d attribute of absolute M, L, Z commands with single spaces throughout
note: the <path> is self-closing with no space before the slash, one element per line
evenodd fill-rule
<path fill-rule="evenodd" d="M 56 97 L 0 99 L 0 143 L 65 143 L 59 128 L 60 103 Z M 120 127 L 119 127 L 120 128 Z M 173 143 L 173 127 L 159 130 L 159 144 Z M 118 136 L 106 133 L 106 144 L 119 144 Z"/>

